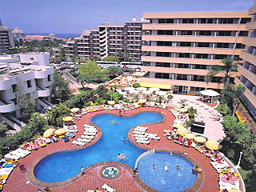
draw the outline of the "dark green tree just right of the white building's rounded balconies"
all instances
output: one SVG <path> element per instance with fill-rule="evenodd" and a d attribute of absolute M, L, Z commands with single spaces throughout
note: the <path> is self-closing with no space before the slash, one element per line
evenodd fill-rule
<path fill-rule="evenodd" d="M 66 101 L 69 98 L 70 93 L 70 87 L 68 82 L 64 78 L 62 78 L 62 75 L 58 74 L 58 72 L 55 70 L 54 72 L 54 82 L 52 84 L 52 96 L 54 102 Z"/>

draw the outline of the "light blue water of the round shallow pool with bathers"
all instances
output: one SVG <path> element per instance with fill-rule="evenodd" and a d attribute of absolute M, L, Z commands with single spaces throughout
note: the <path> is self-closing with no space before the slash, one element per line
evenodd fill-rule
<path fill-rule="evenodd" d="M 152 165 L 155 169 L 152 169 Z M 164 167 L 168 167 L 165 172 Z M 179 170 L 176 170 L 179 166 Z M 192 174 L 193 164 L 178 154 L 156 152 L 138 162 L 138 174 L 142 182 L 154 190 L 178 192 L 194 185 L 197 175 Z"/>

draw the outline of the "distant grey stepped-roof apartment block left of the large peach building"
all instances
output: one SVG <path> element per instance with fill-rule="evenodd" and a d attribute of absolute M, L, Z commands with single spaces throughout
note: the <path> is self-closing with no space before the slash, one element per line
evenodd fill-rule
<path fill-rule="evenodd" d="M 79 38 L 66 42 L 65 47 L 70 55 L 87 58 L 106 58 L 122 51 L 134 62 L 140 62 L 143 23 L 146 23 L 143 19 L 133 19 L 124 25 L 104 23 L 98 26 L 98 30 L 84 30 Z"/>

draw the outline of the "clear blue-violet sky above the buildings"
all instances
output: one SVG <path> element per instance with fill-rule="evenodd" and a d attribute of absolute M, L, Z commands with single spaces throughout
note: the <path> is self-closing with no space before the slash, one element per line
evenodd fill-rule
<path fill-rule="evenodd" d="M 254 0 L 0 0 L 3 26 L 26 33 L 81 34 L 148 12 L 249 10 Z"/>

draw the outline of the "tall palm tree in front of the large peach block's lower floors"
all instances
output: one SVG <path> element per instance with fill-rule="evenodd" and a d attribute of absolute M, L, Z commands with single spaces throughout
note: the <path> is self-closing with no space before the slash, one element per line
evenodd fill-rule
<path fill-rule="evenodd" d="M 210 70 L 208 74 L 206 74 L 205 81 L 210 82 L 211 78 L 213 78 L 216 74 L 224 73 L 223 83 L 224 86 L 230 83 L 230 74 L 231 71 L 237 70 L 238 63 L 235 62 L 234 58 L 231 59 L 222 59 L 222 64 L 224 66 L 218 66 L 215 70 Z"/>

